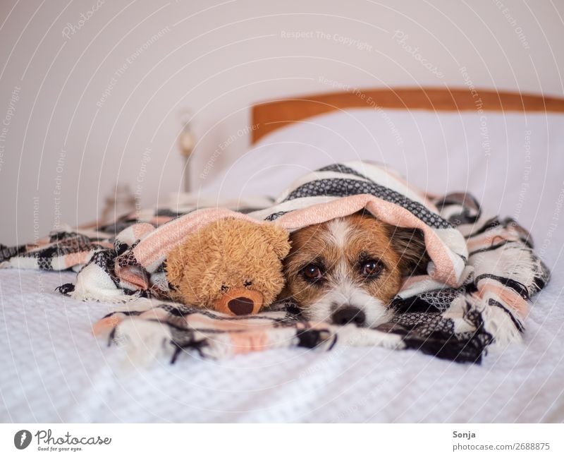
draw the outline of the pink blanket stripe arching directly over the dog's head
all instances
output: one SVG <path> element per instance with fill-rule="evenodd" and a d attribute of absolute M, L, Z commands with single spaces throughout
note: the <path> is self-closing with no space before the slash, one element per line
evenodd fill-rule
<path fill-rule="evenodd" d="M 425 237 L 427 253 L 429 253 L 435 265 L 431 278 L 453 287 L 460 285 L 459 277 L 462 273 L 463 261 L 460 259 L 460 268 L 457 272 L 449 248 L 439 238 L 434 229 L 427 226 L 409 210 L 386 200 L 376 198 L 374 195 L 351 195 L 332 200 L 328 203 L 319 203 L 295 210 L 276 219 L 276 224 L 280 224 L 288 230 L 300 229 L 312 224 L 326 222 L 333 218 L 352 215 L 363 208 L 366 208 L 372 215 L 388 224 L 421 229 Z"/>

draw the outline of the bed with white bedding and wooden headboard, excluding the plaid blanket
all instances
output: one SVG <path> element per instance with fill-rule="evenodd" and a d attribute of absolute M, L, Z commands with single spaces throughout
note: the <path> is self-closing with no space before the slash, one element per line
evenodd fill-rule
<path fill-rule="evenodd" d="M 490 212 L 531 229 L 551 267 L 522 343 L 481 365 L 360 347 L 281 349 L 221 361 L 194 354 L 174 365 L 139 367 L 123 349 L 92 337 L 92 324 L 113 304 L 54 291 L 75 274 L 0 270 L 0 419 L 563 421 L 564 100 L 476 94 L 348 90 L 257 104 L 250 150 L 196 196 L 171 204 L 243 202 L 265 190 L 276 195 L 304 171 L 350 159 L 386 162 L 429 192 L 469 190 Z"/>

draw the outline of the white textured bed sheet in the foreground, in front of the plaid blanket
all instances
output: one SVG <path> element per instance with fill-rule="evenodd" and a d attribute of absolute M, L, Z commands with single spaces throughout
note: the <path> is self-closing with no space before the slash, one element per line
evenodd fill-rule
<path fill-rule="evenodd" d="M 0 271 L 0 419 L 121 421 L 564 421 L 561 268 L 522 344 L 482 365 L 336 347 L 134 368 L 94 339 L 112 306 L 54 292 L 73 275 Z"/>

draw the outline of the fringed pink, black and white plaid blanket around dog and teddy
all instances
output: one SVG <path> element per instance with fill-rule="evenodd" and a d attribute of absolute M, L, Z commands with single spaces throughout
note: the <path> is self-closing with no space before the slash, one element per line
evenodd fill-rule
<path fill-rule="evenodd" d="M 294 231 L 362 209 L 421 229 L 431 258 L 427 275 L 406 279 L 393 299 L 389 323 L 375 329 L 309 323 L 291 301 L 232 317 L 169 300 L 166 253 L 204 224 L 238 217 Z M 421 193 L 367 162 L 308 174 L 266 208 L 151 210 L 104 227 L 58 231 L 33 246 L 0 246 L 0 267 L 77 270 L 77 282 L 62 285 L 61 293 L 125 304 L 102 318 L 94 334 L 127 344 L 137 358 L 171 361 L 188 351 L 217 358 L 292 346 L 378 345 L 479 362 L 492 346 L 520 339 L 529 298 L 549 277 L 513 219 L 482 215 L 467 193 Z"/>

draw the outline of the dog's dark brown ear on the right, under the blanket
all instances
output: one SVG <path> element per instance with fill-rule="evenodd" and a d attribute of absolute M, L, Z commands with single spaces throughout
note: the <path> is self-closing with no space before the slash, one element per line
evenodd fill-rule
<path fill-rule="evenodd" d="M 421 229 L 411 227 L 388 227 L 394 250 L 400 255 L 402 275 L 419 275 L 427 272 L 429 255 Z"/>

